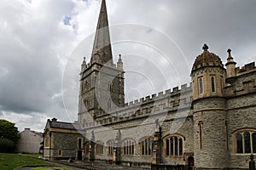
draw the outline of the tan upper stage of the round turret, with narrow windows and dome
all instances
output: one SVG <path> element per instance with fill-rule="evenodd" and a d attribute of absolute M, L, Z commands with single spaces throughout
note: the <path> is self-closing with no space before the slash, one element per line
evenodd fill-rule
<path fill-rule="evenodd" d="M 193 98 L 222 97 L 225 69 L 218 55 L 208 51 L 207 44 L 203 53 L 196 59 L 191 71 L 193 82 Z"/>

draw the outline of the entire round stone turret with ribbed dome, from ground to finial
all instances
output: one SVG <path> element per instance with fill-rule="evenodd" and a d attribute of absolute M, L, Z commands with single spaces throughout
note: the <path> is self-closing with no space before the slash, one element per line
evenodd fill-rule
<path fill-rule="evenodd" d="M 207 44 L 203 50 L 191 71 L 195 167 L 221 168 L 228 162 L 223 92 L 226 71 L 218 55 L 208 51 Z"/>

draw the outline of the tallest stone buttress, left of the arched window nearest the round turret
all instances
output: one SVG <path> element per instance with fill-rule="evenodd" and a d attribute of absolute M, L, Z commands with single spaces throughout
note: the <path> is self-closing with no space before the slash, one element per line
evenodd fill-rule
<path fill-rule="evenodd" d="M 159 164 L 161 161 L 161 129 L 159 126 L 156 127 L 154 131 L 154 143 L 151 164 Z"/>

